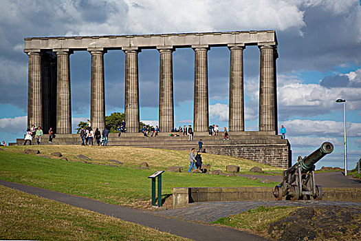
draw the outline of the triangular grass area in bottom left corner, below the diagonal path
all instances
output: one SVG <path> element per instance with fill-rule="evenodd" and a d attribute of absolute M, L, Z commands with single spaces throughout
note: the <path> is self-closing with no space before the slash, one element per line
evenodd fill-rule
<path fill-rule="evenodd" d="M 0 185 L 0 240 L 188 240 Z"/>

